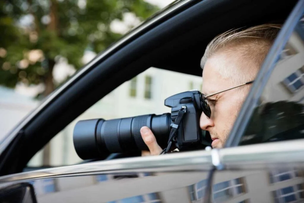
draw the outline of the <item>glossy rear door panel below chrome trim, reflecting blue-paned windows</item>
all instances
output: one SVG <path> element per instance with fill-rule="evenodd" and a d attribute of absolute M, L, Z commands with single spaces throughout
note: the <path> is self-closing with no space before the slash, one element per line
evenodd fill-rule
<path fill-rule="evenodd" d="M 269 167 L 237 162 L 233 170 L 216 171 L 213 178 L 212 202 L 303 202 L 303 165 Z M 259 165 L 261 166 L 261 165 Z"/>

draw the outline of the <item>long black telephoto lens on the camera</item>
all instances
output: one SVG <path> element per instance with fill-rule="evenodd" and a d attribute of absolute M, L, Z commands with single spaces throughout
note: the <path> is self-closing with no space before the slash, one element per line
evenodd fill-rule
<path fill-rule="evenodd" d="M 148 150 L 140 134 L 147 126 L 164 149 L 171 130 L 171 114 L 148 114 L 112 120 L 91 119 L 78 121 L 73 142 L 81 159 L 94 159 L 103 154 Z"/>

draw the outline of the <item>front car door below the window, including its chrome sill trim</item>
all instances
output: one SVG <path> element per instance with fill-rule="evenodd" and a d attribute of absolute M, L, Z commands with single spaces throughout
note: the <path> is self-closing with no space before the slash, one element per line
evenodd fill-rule
<path fill-rule="evenodd" d="M 9 192 L 0 201 L 35 194 L 37 202 L 191 202 L 203 197 L 212 167 L 211 152 L 196 151 L 32 171 L 2 177 L 0 191 Z M 20 182 L 31 192 L 15 192 Z M 12 201 L 13 192 L 24 199 Z"/>

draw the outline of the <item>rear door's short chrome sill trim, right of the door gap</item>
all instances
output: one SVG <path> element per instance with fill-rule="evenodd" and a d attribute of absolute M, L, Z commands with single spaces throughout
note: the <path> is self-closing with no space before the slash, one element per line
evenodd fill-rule
<path fill-rule="evenodd" d="M 246 145 L 221 149 L 219 155 L 225 169 L 242 167 L 253 169 L 273 164 L 304 163 L 304 139 Z M 250 164 L 250 165 L 247 165 Z"/>

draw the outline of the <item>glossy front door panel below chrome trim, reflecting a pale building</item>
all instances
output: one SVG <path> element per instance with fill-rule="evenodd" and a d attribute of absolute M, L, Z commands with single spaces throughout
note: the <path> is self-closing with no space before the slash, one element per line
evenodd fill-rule
<path fill-rule="evenodd" d="M 194 166 L 194 165 L 192 165 Z M 167 203 L 167 202 L 202 202 L 202 194 L 191 195 L 189 185 L 198 185 L 198 180 L 205 180 L 208 171 L 178 170 L 176 166 L 170 171 L 154 171 L 149 175 L 137 172 L 136 177 L 115 178 L 115 174 L 106 173 L 107 180 L 100 181 L 101 174 L 85 174 L 73 177 L 52 177 L 27 181 L 33 185 L 39 203 L 47 202 L 86 202 L 86 203 Z M 158 169 L 159 170 L 159 169 Z M 121 176 L 134 173 L 119 172 Z M 119 174 L 118 173 L 118 174 Z M 129 186 L 129 187 L 128 187 Z M 50 187 L 51 189 L 49 189 Z"/>

